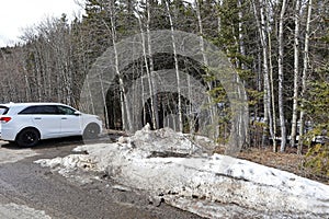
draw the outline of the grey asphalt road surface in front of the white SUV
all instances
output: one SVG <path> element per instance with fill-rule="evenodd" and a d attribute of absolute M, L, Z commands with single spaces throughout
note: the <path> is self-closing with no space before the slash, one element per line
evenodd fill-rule
<path fill-rule="evenodd" d="M 33 162 L 71 154 L 81 143 L 56 139 L 22 149 L 0 141 L 0 218 L 200 218 L 164 203 L 150 203 L 145 192 L 117 189 L 106 175 L 77 173 L 77 177 L 99 178 L 79 183 Z"/>

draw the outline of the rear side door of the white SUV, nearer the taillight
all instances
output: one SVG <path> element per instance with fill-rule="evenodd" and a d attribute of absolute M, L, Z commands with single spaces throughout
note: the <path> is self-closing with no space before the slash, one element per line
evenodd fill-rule
<path fill-rule="evenodd" d="M 43 139 L 56 138 L 60 134 L 60 116 L 58 115 L 56 106 L 29 106 L 20 113 L 20 116 L 30 116 L 33 126 L 39 130 Z"/>

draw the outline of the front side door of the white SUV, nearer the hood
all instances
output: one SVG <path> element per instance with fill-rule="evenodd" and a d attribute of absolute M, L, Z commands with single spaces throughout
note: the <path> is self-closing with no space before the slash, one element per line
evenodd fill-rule
<path fill-rule="evenodd" d="M 63 136 L 78 136 L 82 135 L 81 116 L 76 114 L 76 110 L 57 105 L 60 115 L 60 132 Z"/>

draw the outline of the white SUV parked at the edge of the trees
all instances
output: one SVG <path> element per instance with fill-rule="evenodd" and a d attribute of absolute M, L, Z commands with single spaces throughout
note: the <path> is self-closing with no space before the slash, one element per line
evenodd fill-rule
<path fill-rule="evenodd" d="M 60 103 L 0 104 L 0 139 L 33 147 L 41 139 L 83 136 L 97 138 L 102 122 Z"/>

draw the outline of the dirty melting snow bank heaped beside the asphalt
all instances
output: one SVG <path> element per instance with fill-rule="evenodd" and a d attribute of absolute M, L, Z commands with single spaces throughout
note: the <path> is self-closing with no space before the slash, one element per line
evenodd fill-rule
<path fill-rule="evenodd" d="M 146 126 L 115 143 L 75 149 L 84 154 L 36 162 L 65 176 L 77 169 L 104 172 L 124 186 L 208 218 L 329 216 L 328 185 L 246 160 L 206 154 L 198 140 Z"/>

